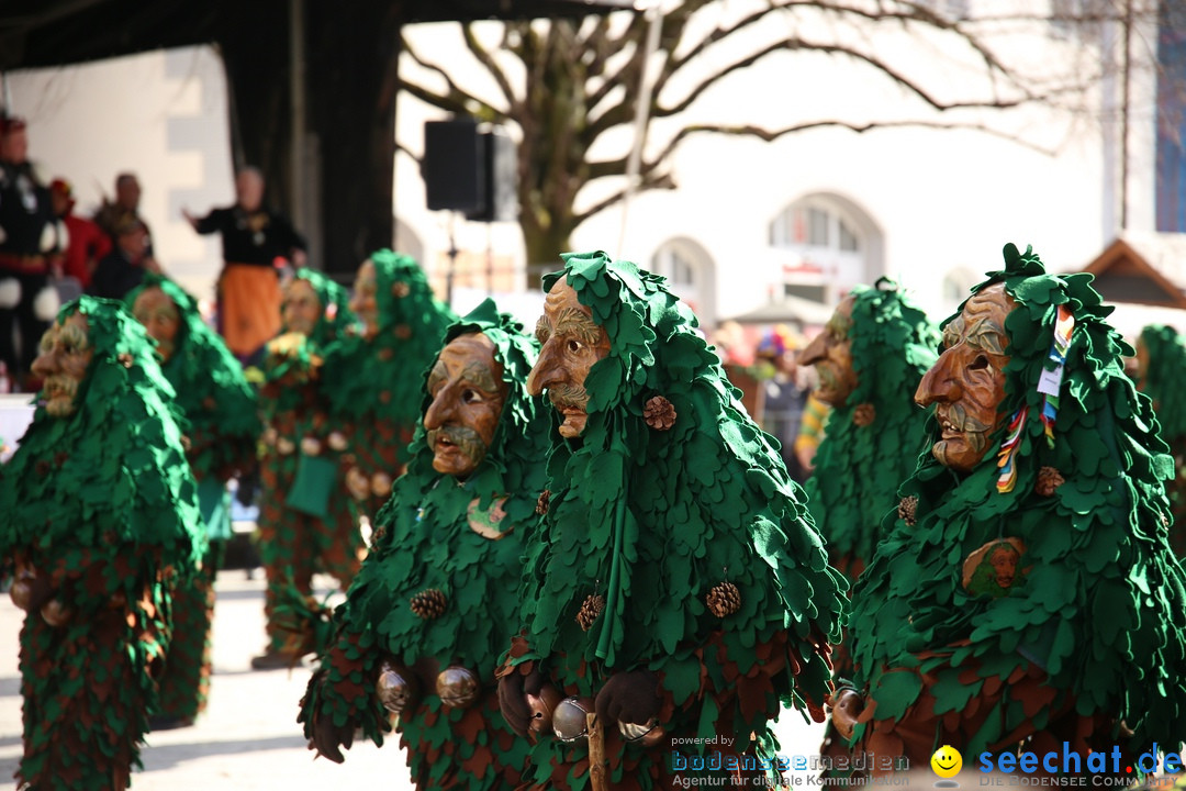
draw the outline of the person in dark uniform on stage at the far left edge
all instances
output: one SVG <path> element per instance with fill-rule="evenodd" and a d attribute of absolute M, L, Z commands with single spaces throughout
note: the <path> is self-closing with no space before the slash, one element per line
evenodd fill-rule
<path fill-rule="evenodd" d="M 0 114 L 0 362 L 17 390 L 37 390 L 37 345 L 58 311 L 50 260 L 64 230 L 28 161 L 25 120 Z"/>

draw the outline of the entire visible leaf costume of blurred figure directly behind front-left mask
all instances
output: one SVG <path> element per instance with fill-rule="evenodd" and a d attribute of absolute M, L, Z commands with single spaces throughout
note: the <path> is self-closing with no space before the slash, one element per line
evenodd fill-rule
<path fill-rule="evenodd" d="M 325 393 L 332 422 L 346 433 L 343 457 L 347 476 L 364 483 L 355 497 L 371 518 L 391 493 L 391 481 L 409 460 L 408 442 L 420 419 L 423 395 L 409 371 L 436 358 L 441 338 L 457 314 L 435 296 L 420 266 L 406 255 L 378 250 L 375 264 L 378 333 L 338 340 L 325 359 Z"/>

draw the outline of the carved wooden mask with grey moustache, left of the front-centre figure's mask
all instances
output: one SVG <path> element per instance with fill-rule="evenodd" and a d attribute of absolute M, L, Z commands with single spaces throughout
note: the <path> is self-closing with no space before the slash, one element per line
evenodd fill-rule
<path fill-rule="evenodd" d="M 428 374 L 425 438 L 433 470 L 466 478 L 486 458 L 506 402 L 503 365 L 482 333 L 454 338 Z"/>

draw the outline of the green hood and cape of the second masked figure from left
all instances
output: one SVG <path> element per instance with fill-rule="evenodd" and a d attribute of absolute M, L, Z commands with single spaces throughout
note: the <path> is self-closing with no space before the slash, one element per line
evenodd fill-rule
<path fill-rule="evenodd" d="M 161 371 L 190 425 L 193 474 L 199 480 L 211 476 L 225 480 L 255 457 L 261 430 L 255 390 L 223 339 L 203 321 L 197 301 L 172 280 L 146 274 L 125 304 L 130 308 L 144 289 L 154 286 L 173 300 L 180 315 L 173 355 L 161 363 Z"/>

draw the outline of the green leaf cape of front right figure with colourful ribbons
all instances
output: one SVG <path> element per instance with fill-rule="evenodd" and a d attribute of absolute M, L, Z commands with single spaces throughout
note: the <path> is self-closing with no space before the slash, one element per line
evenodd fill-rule
<path fill-rule="evenodd" d="M 1178 744 L 1186 738 L 1186 592 L 1167 544 L 1163 481 L 1172 460 L 1149 400 L 1123 374 L 1130 350 L 1104 321 L 1111 308 L 1091 276 L 1047 274 L 1035 255 L 1012 244 L 1005 261 L 978 288 L 1003 282 L 1018 304 L 1005 325 L 1002 410 L 1012 419 L 1028 408 L 1013 457 L 1015 486 L 997 491 L 994 451 L 967 477 L 930 454 L 920 460 L 901 487 L 917 498 L 914 523 L 887 516 L 887 537 L 854 592 L 857 683 L 876 700 L 876 719 L 898 719 L 922 681 L 890 669 L 933 670 L 942 714 L 963 710 L 984 678 L 1037 665 L 1058 690 L 1033 717 L 1038 729 L 1071 695 L 1080 715 L 1123 720 L 1141 749 L 1154 740 Z M 1059 306 L 1075 326 L 1060 397 L 1051 402 L 1038 383 L 1057 366 Z M 1051 406 L 1052 444 L 1041 421 Z M 933 416 L 926 432 L 930 442 L 940 436 Z M 997 432 L 990 447 L 1000 448 L 1007 433 Z M 1065 478 L 1052 496 L 1035 491 L 1042 467 Z M 962 585 L 963 561 L 1000 537 L 1025 542 L 1019 568 L 1028 572 L 1001 598 L 973 595 Z M 975 678 L 961 675 L 962 663 L 976 668 Z M 1009 706 L 959 748 L 978 752 L 1026 716 Z"/>

